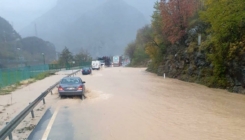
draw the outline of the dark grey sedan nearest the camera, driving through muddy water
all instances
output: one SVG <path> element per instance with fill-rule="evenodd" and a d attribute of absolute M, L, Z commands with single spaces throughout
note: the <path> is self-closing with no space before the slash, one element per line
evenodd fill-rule
<path fill-rule="evenodd" d="M 61 98 L 63 96 L 80 96 L 81 99 L 85 98 L 85 81 L 82 81 L 80 77 L 65 77 L 60 81 L 58 92 Z"/>

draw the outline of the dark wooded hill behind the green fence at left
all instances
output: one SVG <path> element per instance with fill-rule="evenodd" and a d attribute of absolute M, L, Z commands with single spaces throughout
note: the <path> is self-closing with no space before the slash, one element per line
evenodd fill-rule
<path fill-rule="evenodd" d="M 43 64 L 56 59 L 52 43 L 37 37 L 21 38 L 8 21 L 0 17 L 0 68 Z"/>

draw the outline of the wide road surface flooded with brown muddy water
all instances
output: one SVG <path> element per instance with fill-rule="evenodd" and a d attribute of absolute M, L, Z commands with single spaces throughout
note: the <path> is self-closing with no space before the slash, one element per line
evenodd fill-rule
<path fill-rule="evenodd" d="M 79 76 L 86 81 L 87 99 L 60 99 L 52 107 L 59 107 L 52 140 L 65 139 L 62 133 L 74 140 L 245 139 L 244 95 L 138 68 Z"/>

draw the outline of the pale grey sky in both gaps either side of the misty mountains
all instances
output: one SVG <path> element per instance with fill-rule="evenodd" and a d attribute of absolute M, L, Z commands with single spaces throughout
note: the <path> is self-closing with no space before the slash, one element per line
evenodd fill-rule
<path fill-rule="evenodd" d="M 53 8 L 58 0 L 0 0 L 0 16 L 9 21 L 19 32 L 36 18 Z M 135 5 L 150 21 L 154 2 L 157 0 L 125 0 Z M 139 3 L 140 1 L 140 3 Z"/>

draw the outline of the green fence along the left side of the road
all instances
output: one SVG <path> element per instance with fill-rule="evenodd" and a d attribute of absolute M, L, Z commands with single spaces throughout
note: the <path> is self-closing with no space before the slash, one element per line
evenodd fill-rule
<path fill-rule="evenodd" d="M 0 88 L 15 84 L 22 80 L 33 78 L 48 70 L 48 65 L 0 69 Z"/>

